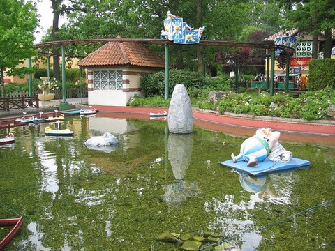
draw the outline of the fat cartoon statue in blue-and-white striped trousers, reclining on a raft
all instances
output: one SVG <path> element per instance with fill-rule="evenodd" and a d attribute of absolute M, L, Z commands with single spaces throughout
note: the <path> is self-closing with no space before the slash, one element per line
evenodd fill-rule
<path fill-rule="evenodd" d="M 271 128 L 258 129 L 253 137 L 249 137 L 241 144 L 239 155 L 232 153 L 234 162 L 245 161 L 247 167 L 255 167 L 258 162 L 266 159 L 274 162 L 290 162 L 292 153 L 278 142 L 281 133 Z"/>

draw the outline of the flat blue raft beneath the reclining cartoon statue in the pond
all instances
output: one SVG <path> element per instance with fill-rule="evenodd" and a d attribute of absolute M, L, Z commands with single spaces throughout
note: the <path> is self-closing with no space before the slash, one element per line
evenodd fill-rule
<path fill-rule="evenodd" d="M 225 160 L 223 162 L 219 162 L 221 165 L 225 165 L 232 169 L 237 169 L 242 172 L 246 172 L 251 175 L 258 174 L 268 174 L 271 172 L 280 172 L 287 169 L 295 169 L 298 167 L 308 167 L 311 163 L 308 160 L 301 160 L 299 158 L 291 158 L 290 162 L 273 162 L 271 160 L 265 160 L 259 162 L 257 167 L 247 167 L 246 162 L 240 161 L 234 163 L 232 160 Z"/>

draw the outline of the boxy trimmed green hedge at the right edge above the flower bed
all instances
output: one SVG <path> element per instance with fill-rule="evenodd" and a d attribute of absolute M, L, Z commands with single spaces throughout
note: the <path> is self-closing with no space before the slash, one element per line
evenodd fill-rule
<path fill-rule="evenodd" d="M 312 59 L 309 62 L 308 89 L 318 91 L 327 86 L 335 89 L 335 60 Z"/>

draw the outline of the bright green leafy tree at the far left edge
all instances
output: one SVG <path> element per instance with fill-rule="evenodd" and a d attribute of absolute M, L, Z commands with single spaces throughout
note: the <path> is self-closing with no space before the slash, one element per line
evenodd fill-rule
<path fill-rule="evenodd" d="M 4 74 L 22 75 L 28 68 L 17 65 L 36 54 L 34 30 L 38 25 L 31 1 L 0 1 L 0 76 L 1 96 L 5 96 Z"/>

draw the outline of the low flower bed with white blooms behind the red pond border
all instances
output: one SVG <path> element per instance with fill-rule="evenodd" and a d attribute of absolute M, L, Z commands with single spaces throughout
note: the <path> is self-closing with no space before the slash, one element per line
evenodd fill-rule
<path fill-rule="evenodd" d="M 330 88 L 310 91 L 298 98 L 292 98 L 287 93 L 275 93 L 274 96 L 264 92 L 253 96 L 248 93 L 229 93 L 218 101 L 221 114 L 232 112 L 307 120 L 327 119 L 330 105 L 335 105 L 335 91 Z"/>

